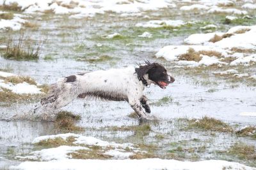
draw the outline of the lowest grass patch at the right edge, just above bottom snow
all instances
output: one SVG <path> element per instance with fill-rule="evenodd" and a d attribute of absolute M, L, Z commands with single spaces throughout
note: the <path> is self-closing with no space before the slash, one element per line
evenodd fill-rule
<path fill-rule="evenodd" d="M 235 143 L 228 149 L 228 155 L 233 155 L 239 159 L 256 160 L 256 150 L 253 145 L 245 143 Z"/>

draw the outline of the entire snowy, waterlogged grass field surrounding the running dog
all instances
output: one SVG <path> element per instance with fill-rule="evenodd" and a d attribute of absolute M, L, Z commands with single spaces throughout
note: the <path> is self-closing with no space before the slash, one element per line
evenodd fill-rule
<path fill-rule="evenodd" d="M 36 2 L 0 1 L 0 169 L 255 169 L 255 0 Z M 175 78 L 145 88 L 152 121 L 95 99 L 33 118 L 58 78 L 145 60 Z"/>

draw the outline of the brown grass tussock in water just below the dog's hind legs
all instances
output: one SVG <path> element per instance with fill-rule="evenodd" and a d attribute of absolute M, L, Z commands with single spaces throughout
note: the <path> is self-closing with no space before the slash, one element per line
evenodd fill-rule
<path fill-rule="evenodd" d="M 76 121 L 81 120 L 79 115 L 74 115 L 69 111 L 60 111 L 56 116 L 54 127 L 57 131 L 83 131 L 83 127 L 78 127 Z"/>

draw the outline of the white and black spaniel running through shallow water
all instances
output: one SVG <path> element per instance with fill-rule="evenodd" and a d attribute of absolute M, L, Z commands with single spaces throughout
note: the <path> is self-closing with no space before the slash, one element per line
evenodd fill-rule
<path fill-rule="evenodd" d="M 111 101 L 127 101 L 141 120 L 150 113 L 148 99 L 143 95 L 146 86 L 154 83 L 165 89 L 175 79 L 156 62 L 145 62 L 139 67 L 93 71 L 61 78 L 51 85 L 46 97 L 34 109 L 44 117 L 55 117 L 55 111 L 77 98 L 99 97 Z M 143 111 L 143 108 L 145 111 Z M 47 119 L 43 118 L 43 119 Z"/>

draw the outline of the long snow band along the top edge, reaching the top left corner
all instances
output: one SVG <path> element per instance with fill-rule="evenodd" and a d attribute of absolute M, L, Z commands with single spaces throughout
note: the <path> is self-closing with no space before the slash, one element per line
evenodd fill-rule
<path fill-rule="evenodd" d="M 3 4 L 4 0 L 0 3 Z M 117 0 L 99 0 L 99 1 L 83 1 L 83 0 L 31 0 L 18 1 L 6 0 L 5 4 L 18 3 L 26 13 L 34 13 L 36 11 L 52 10 L 56 14 L 82 14 L 80 16 L 93 17 L 96 13 L 106 13 L 108 11 L 115 13 L 139 13 L 142 11 L 157 11 L 162 8 L 175 8 L 174 3 L 168 3 L 164 0 L 150 1 L 117 1 Z M 69 8 L 67 8 L 69 6 Z"/>

